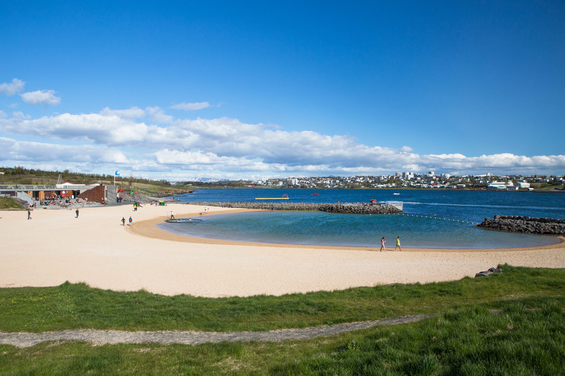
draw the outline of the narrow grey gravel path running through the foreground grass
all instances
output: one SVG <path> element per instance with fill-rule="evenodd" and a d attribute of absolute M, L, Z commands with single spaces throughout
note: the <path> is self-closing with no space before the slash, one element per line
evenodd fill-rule
<path fill-rule="evenodd" d="M 293 339 L 310 339 L 328 336 L 346 331 L 366 329 L 377 325 L 393 325 L 415 322 L 435 314 L 417 314 L 384 318 L 383 320 L 342 323 L 305 329 L 282 329 L 270 331 L 240 331 L 240 332 L 205 332 L 205 331 L 121 331 L 74 329 L 45 333 L 2 333 L 0 344 L 10 344 L 17 347 L 31 347 L 46 341 L 81 341 L 96 344 L 115 343 L 184 343 L 199 344 L 209 342 L 279 342 Z"/>

